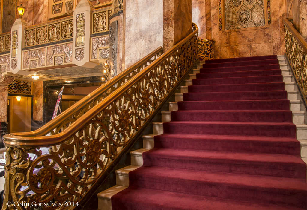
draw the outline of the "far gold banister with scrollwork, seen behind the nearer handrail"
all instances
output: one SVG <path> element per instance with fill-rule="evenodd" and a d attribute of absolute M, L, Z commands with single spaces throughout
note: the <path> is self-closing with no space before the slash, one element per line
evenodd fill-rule
<path fill-rule="evenodd" d="M 87 112 L 87 110 L 91 109 L 94 105 L 99 103 L 104 97 L 106 97 L 112 91 L 120 87 L 123 83 L 125 83 L 127 80 L 133 77 L 137 72 L 145 68 L 148 64 L 154 61 L 161 54 L 162 54 L 162 47 L 158 47 L 156 50 L 154 50 L 147 56 L 143 57 L 134 65 L 127 68 L 125 71 L 119 73 L 119 75 L 115 76 L 111 80 L 107 81 L 105 84 L 94 90 L 92 93 L 88 94 L 86 97 L 82 98 L 80 101 L 78 101 L 78 103 L 69 107 L 63 113 L 58 115 L 56 117 L 56 120 L 51 120 L 41 128 L 31 132 L 14 133 L 8 135 L 11 136 L 12 140 L 14 139 L 13 141 L 20 142 L 19 140 L 24 139 L 24 137 L 31 137 L 31 138 L 26 138 L 27 141 L 32 141 L 32 139 L 33 141 L 36 141 L 35 140 L 36 136 L 44 136 L 50 132 L 51 134 L 57 134 L 59 131 L 64 130 L 67 127 L 66 125 L 67 123 L 74 122 L 82 114 Z M 79 115 L 76 116 L 76 113 L 79 113 Z"/>

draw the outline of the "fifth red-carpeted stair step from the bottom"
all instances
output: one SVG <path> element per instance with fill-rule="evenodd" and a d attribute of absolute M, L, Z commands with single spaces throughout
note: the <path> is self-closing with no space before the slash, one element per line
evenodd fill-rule
<path fill-rule="evenodd" d="M 248 136 L 296 136 L 293 123 L 225 122 L 225 121 L 175 121 L 163 123 L 164 133 L 248 135 Z"/>

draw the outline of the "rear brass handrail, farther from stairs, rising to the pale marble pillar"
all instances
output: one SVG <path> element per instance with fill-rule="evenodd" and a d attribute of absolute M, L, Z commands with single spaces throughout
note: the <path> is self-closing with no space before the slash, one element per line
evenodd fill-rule
<path fill-rule="evenodd" d="M 114 78 L 110 79 L 107 81 L 105 84 L 103 84 L 101 87 L 97 88 L 84 98 L 82 98 L 80 101 L 78 101 L 76 104 L 72 105 L 69 107 L 67 110 L 62 112 L 60 115 L 58 115 L 54 120 L 49 121 L 45 125 L 43 125 L 41 128 L 38 128 L 35 131 L 30 131 L 30 132 L 24 132 L 24 133 L 12 133 L 12 134 L 7 134 L 6 139 L 11 139 L 12 141 L 15 142 L 23 142 L 26 141 L 29 143 L 30 141 L 33 141 L 33 139 L 37 139 L 37 136 L 45 136 L 46 134 L 52 132 L 56 127 L 60 126 L 65 122 L 66 120 L 72 118 L 72 116 L 75 113 L 80 112 L 80 110 L 84 109 L 87 105 L 95 105 L 95 102 L 98 98 L 102 96 L 107 96 L 110 94 L 112 91 L 120 87 L 123 83 L 125 83 L 128 79 L 130 79 L 132 76 L 134 76 L 137 72 L 139 72 L 142 68 L 146 67 L 147 64 L 150 64 L 152 61 L 154 61 L 157 57 L 159 57 L 162 54 L 162 47 L 158 47 L 156 50 L 153 52 L 149 53 L 147 56 L 143 57 L 141 60 L 127 68 L 125 71 L 119 73 L 117 76 Z M 153 59 L 151 59 L 153 58 Z M 116 87 L 115 87 L 116 86 Z M 91 108 L 91 107 L 90 107 Z M 66 124 L 66 123 L 64 123 Z M 58 127 L 62 128 L 62 127 Z M 60 129 L 58 129 L 60 130 Z M 53 133 L 53 132 L 52 132 Z M 55 132 L 57 133 L 57 132 Z M 31 137 L 31 138 L 28 138 Z M 51 138 L 45 137 L 46 139 Z M 36 140 L 34 140 L 36 141 Z M 6 141 L 5 141 L 6 142 Z M 12 144 L 7 142 L 7 145 L 10 146 L 24 146 L 27 147 L 28 144 Z M 32 146 L 32 145 L 29 145 Z"/>

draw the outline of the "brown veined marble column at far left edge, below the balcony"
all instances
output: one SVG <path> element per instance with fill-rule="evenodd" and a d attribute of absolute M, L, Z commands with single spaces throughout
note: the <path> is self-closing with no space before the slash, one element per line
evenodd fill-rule
<path fill-rule="evenodd" d="M 7 86 L 0 85 L 0 148 L 4 147 L 5 134 L 7 134 Z"/>

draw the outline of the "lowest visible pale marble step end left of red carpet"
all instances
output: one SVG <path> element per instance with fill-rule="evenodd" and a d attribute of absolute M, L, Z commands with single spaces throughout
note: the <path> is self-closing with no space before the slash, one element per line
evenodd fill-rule
<path fill-rule="evenodd" d="M 116 193 L 126 189 L 126 186 L 115 185 L 107 190 L 104 190 L 97 194 L 98 197 L 98 209 L 99 210 L 112 210 L 111 197 Z"/>

